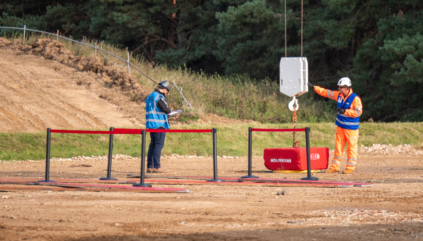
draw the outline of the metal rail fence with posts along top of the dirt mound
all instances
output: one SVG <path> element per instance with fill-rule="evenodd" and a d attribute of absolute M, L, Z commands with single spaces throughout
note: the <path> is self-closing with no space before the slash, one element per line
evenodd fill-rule
<path fill-rule="evenodd" d="M 153 81 L 153 82 L 154 82 L 154 83 L 156 83 L 156 84 L 159 84 L 158 82 L 154 81 L 154 79 L 150 78 L 150 76 L 148 76 L 147 74 L 145 74 L 144 72 L 142 72 L 140 69 L 138 69 L 137 67 L 135 67 L 133 64 L 131 64 L 131 63 L 129 62 L 129 52 L 127 52 L 127 59 L 123 59 L 123 58 L 121 58 L 121 57 L 119 57 L 119 56 L 116 56 L 116 55 L 114 55 L 114 54 L 112 54 L 112 53 L 109 53 L 109 52 L 107 52 L 107 51 L 105 51 L 105 50 L 102 50 L 101 48 L 99 48 L 99 47 L 97 46 L 97 43 L 95 43 L 95 44 L 94 44 L 94 46 L 92 46 L 92 45 L 89 45 L 89 44 L 87 44 L 87 43 L 79 42 L 79 41 L 73 40 L 73 39 L 68 38 L 68 37 L 63 37 L 63 36 L 60 36 L 60 35 L 59 35 L 59 31 L 58 31 L 58 30 L 57 30 L 57 34 L 53 34 L 53 33 L 44 32 L 44 31 L 40 31 L 40 30 L 29 29 L 29 28 L 26 28 L 26 25 L 24 25 L 24 27 L 23 27 L 23 28 L 17 28 L 17 27 L 2 27 L 2 26 L 0 26 L 0 29 L 16 29 L 16 30 L 22 30 L 22 31 L 23 31 L 23 40 L 22 40 L 22 44 L 25 44 L 25 34 L 26 34 L 26 31 L 32 31 L 32 32 L 36 32 L 36 33 L 42 33 L 42 34 L 47 34 L 47 35 L 52 35 L 52 36 L 55 36 L 55 37 L 56 37 L 56 40 L 58 40 L 58 38 L 60 37 L 60 38 L 63 38 L 63 39 L 69 40 L 69 41 L 74 42 L 74 43 L 79 43 L 79 44 L 82 44 L 82 45 L 86 45 L 86 46 L 91 47 L 91 48 L 93 48 L 93 49 L 95 50 L 95 51 L 94 51 L 94 56 L 96 56 L 96 55 L 97 55 L 97 50 L 98 50 L 98 51 L 100 51 L 100 53 L 101 53 L 104 57 L 106 57 L 106 56 L 105 56 L 103 53 L 106 53 L 106 54 L 108 54 L 108 55 L 114 56 L 114 57 L 116 57 L 116 58 L 118 58 L 118 59 L 122 60 L 123 62 L 126 62 L 126 65 L 128 66 L 128 73 L 129 73 L 129 66 L 132 66 L 132 67 L 133 67 L 134 69 L 136 69 L 138 72 L 140 72 L 140 73 L 141 73 L 141 74 L 143 74 L 145 77 L 147 77 L 149 80 Z M 106 59 L 107 59 L 107 60 L 109 60 L 107 57 L 106 57 Z M 110 60 L 109 60 L 109 61 L 110 61 Z M 110 61 L 110 62 L 112 62 L 112 61 Z M 114 63 L 114 62 L 112 62 L 112 63 L 113 63 L 113 64 L 115 64 L 115 65 L 119 65 L 119 64 L 116 64 L 116 63 Z M 124 66 L 124 65 L 120 65 L 120 66 Z"/>

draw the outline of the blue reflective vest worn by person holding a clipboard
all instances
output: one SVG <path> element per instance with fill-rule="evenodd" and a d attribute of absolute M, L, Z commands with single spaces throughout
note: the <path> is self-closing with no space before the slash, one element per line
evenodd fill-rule
<path fill-rule="evenodd" d="M 145 100 L 145 127 L 147 129 L 158 129 L 159 127 L 170 129 L 167 114 L 157 106 L 160 97 L 163 97 L 164 101 L 166 101 L 165 97 L 157 92 L 151 93 Z"/>

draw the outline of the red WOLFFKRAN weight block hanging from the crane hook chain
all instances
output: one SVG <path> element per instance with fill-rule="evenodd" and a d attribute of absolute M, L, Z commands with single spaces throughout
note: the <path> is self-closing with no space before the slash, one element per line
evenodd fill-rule
<path fill-rule="evenodd" d="M 329 148 L 310 148 L 312 170 L 327 169 Z M 270 170 L 307 170 L 307 151 L 305 148 L 266 148 L 264 166 Z"/>

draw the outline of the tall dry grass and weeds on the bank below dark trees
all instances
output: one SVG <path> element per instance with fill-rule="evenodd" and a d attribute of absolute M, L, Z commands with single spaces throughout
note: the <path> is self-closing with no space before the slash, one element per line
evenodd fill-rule
<path fill-rule="evenodd" d="M 27 34 L 25 44 L 28 45 L 34 43 L 38 38 L 50 37 L 44 34 L 27 33 L 29 34 Z M 12 41 L 22 39 L 22 35 L 18 32 L 5 37 Z M 58 41 L 63 43 L 67 49 L 74 51 L 76 55 L 94 57 L 93 48 L 62 38 L 59 38 Z M 87 38 L 80 41 L 92 46 L 96 42 Z M 126 51 L 116 46 L 109 44 L 98 44 L 98 46 L 123 59 L 127 58 Z M 125 62 L 116 57 L 103 55 L 100 51 L 97 51 L 96 56 L 105 65 L 115 63 L 115 68 L 127 71 Z M 234 119 L 252 119 L 262 123 L 292 122 L 292 111 L 289 111 L 287 107 L 292 98 L 280 93 L 279 82 L 266 78 L 251 79 L 247 75 L 221 76 L 194 73 L 184 69 L 170 70 L 164 65 L 143 61 L 142 56 L 130 56 L 130 62 L 156 82 L 166 79 L 175 82 L 179 88 L 182 88 L 185 98 L 191 102 L 194 108 L 193 111 L 181 101 L 181 96 L 176 90 L 168 95 L 167 100 L 173 108 L 185 111 L 182 114 L 184 120 L 197 118 L 205 113 L 214 113 Z M 130 73 L 136 75 L 142 85 L 154 90 L 156 84 L 144 75 L 134 68 L 131 68 Z M 316 101 L 313 96 L 316 96 L 316 93 L 303 94 L 299 97 L 298 120 L 311 123 L 330 121 L 332 113 L 336 110 L 336 102 Z"/>

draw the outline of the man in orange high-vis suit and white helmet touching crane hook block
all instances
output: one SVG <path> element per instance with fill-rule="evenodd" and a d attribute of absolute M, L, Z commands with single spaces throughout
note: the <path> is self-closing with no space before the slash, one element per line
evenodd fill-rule
<path fill-rule="evenodd" d="M 363 112 L 360 97 L 353 93 L 351 80 L 348 77 L 339 79 L 339 91 L 326 90 L 311 83 L 308 83 L 308 86 L 321 96 L 337 101 L 335 155 L 332 159 L 331 168 L 326 172 L 339 171 L 342 153 L 345 144 L 347 144 L 347 168 L 342 173 L 352 173 L 357 163 L 358 122 Z"/>

